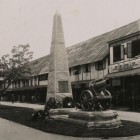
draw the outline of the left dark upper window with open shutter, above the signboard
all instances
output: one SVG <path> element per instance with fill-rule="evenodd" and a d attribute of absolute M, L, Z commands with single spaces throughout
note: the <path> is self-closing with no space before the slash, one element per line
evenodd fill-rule
<path fill-rule="evenodd" d="M 117 45 L 113 47 L 113 61 L 121 61 L 124 59 L 124 45 Z"/>

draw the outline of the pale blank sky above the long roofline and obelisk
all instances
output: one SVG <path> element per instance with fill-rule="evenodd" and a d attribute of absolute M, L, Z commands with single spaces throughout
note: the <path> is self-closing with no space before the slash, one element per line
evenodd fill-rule
<path fill-rule="evenodd" d="M 0 57 L 19 44 L 49 54 L 56 11 L 69 47 L 138 20 L 140 0 L 0 0 Z"/>

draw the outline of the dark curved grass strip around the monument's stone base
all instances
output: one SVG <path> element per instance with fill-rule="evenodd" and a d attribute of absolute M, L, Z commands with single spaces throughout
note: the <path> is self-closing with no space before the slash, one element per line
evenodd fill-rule
<path fill-rule="evenodd" d="M 31 121 L 31 115 L 35 110 L 21 107 L 11 107 L 0 105 L 0 117 L 11 120 L 44 132 L 62 134 L 67 136 L 75 137 L 127 137 L 140 135 L 140 123 L 124 121 L 122 120 L 123 126 L 115 129 L 94 129 L 87 130 L 81 128 L 79 125 L 66 124 L 59 121 L 49 121 L 45 123 L 44 120 L 38 122 Z"/>

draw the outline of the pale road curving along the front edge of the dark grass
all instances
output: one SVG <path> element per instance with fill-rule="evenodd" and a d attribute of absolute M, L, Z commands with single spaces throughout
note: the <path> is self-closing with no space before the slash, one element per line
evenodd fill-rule
<path fill-rule="evenodd" d="M 109 139 L 140 140 L 140 136 Z M 76 138 L 50 134 L 0 118 L 0 140 L 102 140 L 102 138 Z"/>

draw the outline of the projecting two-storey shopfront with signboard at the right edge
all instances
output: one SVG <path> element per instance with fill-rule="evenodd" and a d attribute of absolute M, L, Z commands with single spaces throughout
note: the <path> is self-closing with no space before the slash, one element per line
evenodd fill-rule
<path fill-rule="evenodd" d="M 114 106 L 140 107 L 140 20 L 129 25 L 131 34 L 110 40 L 109 74 Z M 128 33 L 129 33 L 128 31 Z"/>

